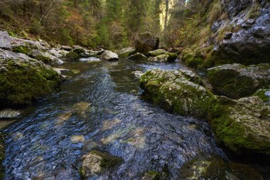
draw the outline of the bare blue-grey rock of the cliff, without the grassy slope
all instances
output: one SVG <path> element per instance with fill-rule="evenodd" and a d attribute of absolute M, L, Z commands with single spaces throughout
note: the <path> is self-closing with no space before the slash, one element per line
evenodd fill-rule
<path fill-rule="evenodd" d="M 227 20 L 217 19 L 214 55 L 234 63 L 270 62 L 270 3 L 258 0 L 222 0 Z M 222 41 L 217 39 L 222 36 Z"/>

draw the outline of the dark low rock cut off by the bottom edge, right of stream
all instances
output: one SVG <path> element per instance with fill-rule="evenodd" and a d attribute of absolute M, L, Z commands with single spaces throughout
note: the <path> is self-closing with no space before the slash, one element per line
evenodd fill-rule
<path fill-rule="evenodd" d="M 216 155 L 198 157 L 180 170 L 179 179 L 262 180 L 261 174 L 244 164 L 227 162 Z"/>

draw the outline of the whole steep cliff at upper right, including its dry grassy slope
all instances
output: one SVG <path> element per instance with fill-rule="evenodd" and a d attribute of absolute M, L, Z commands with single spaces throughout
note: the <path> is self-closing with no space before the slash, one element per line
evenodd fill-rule
<path fill-rule="evenodd" d="M 189 42 L 182 43 L 184 63 L 191 68 L 209 68 L 270 62 L 269 0 L 214 0 L 207 1 L 204 9 L 188 18 L 182 29 L 192 35 L 191 41 L 188 36 L 180 37 L 180 41 Z"/>

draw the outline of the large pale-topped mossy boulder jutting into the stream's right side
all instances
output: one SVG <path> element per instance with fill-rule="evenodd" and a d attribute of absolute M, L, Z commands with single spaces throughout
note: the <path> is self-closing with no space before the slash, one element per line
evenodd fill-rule
<path fill-rule="evenodd" d="M 140 86 L 145 97 L 180 115 L 206 117 L 213 96 L 191 70 L 148 70 L 141 76 Z"/>

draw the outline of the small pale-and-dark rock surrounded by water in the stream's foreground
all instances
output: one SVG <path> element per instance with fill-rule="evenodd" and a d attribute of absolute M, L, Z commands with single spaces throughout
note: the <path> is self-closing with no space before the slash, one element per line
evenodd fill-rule
<path fill-rule="evenodd" d="M 124 162 L 121 157 L 115 157 L 111 154 L 93 150 L 82 157 L 82 168 L 80 175 L 82 179 L 90 178 L 97 174 L 116 169 Z"/>

